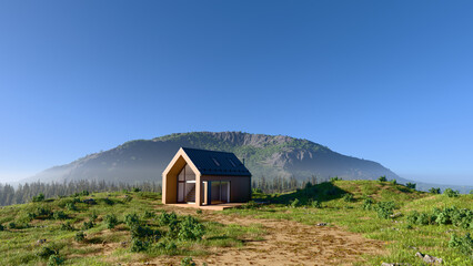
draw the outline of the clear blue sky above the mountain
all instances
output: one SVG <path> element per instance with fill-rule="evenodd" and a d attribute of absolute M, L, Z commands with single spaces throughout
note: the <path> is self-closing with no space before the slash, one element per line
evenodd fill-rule
<path fill-rule="evenodd" d="M 125 141 L 308 139 L 473 185 L 472 1 L 0 1 L 0 180 Z"/>

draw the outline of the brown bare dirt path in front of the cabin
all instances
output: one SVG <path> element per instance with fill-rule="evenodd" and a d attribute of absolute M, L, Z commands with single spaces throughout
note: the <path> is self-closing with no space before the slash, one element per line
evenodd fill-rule
<path fill-rule="evenodd" d="M 195 214 L 193 208 L 160 208 Z M 215 247 L 210 256 L 193 257 L 198 265 L 204 262 L 208 265 L 352 265 L 363 260 L 362 254 L 380 254 L 384 249 L 382 242 L 333 226 L 309 226 L 285 219 L 259 219 L 212 211 L 204 211 L 200 217 L 222 224 L 262 224 L 268 234 L 263 241 L 249 242 L 243 247 Z M 180 259 L 157 257 L 147 265 L 180 265 Z"/>

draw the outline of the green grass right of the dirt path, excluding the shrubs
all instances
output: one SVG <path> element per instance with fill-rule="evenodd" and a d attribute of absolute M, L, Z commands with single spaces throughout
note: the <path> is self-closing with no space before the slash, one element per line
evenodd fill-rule
<path fill-rule="evenodd" d="M 352 202 L 345 202 L 344 195 L 351 194 Z M 301 206 L 290 205 L 295 198 Z M 374 202 L 394 202 L 400 217 L 379 218 L 375 211 L 362 207 L 364 198 Z M 310 201 L 321 202 L 321 208 L 309 205 Z M 444 259 L 444 265 L 473 265 L 473 257 L 449 247 L 453 233 L 464 235 L 473 228 L 461 228 L 453 225 L 412 225 L 409 226 L 405 215 L 410 211 L 430 212 L 433 207 L 456 206 L 471 208 L 473 195 L 447 197 L 417 192 L 403 185 L 379 181 L 335 181 L 322 183 L 296 192 L 281 195 L 255 195 L 255 201 L 269 201 L 269 205 L 260 208 L 239 208 L 224 211 L 227 214 L 251 215 L 256 218 L 292 219 L 299 223 L 314 225 L 321 222 L 329 225 L 361 233 L 371 239 L 386 243 L 388 255 L 366 256 L 370 265 L 388 263 L 410 263 L 423 265 L 415 257 L 416 252 L 426 253 Z M 415 248 L 415 249 L 413 249 Z"/>

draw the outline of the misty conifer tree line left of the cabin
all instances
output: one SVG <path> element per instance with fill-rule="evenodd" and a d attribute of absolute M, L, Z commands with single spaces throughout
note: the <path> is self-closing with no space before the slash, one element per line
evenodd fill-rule
<path fill-rule="evenodd" d="M 46 198 L 50 198 L 56 196 L 68 196 L 83 191 L 93 193 L 123 190 L 132 191 L 133 188 L 139 188 L 143 192 L 161 192 L 161 183 L 141 182 L 137 184 L 128 184 L 105 181 L 71 181 L 63 183 L 34 182 L 20 184 L 17 187 L 0 183 L 0 206 L 31 202 L 32 198 L 38 196 L 40 193 L 42 193 Z"/>

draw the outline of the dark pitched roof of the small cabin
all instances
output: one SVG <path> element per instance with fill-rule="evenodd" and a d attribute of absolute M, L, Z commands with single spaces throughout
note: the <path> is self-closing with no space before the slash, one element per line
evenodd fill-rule
<path fill-rule="evenodd" d="M 250 171 L 233 154 L 182 147 L 202 175 L 251 176 Z"/>

